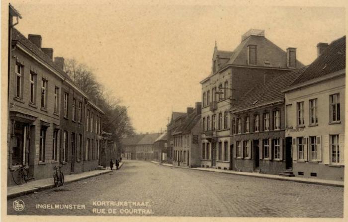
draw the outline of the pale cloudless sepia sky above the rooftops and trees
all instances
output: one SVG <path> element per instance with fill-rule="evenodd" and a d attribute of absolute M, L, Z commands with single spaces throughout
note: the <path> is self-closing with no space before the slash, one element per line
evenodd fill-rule
<path fill-rule="evenodd" d="M 215 40 L 218 49 L 233 51 L 250 28 L 264 29 L 281 49 L 297 48 L 298 60 L 308 65 L 317 43 L 346 34 L 345 8 L 339 7 L 10 2 L 23 16 L 16 28 L 26 37 L 40 34 L 42 47 L 53 48 L 54 57 L 92 68 L 98 81 L 130 106 L 138 133 L 159 132 L 172 110 L 185 112 L 201 100 L 199 81 L 210 73 Z"/>

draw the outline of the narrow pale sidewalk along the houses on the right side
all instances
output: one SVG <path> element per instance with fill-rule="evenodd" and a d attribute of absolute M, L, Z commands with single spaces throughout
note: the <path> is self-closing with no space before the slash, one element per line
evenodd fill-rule
<path fill-rule="evenodd" d="M 152 162 L 155 162 L 155 161 L 152 161 Z M 155 163 L 158 163 L 158 162 L 155 162 Z M 323 180 L 323 179 L 302 178 L 302 177 L 284 177 L 284 176 L 272 175 L 272 174 L 238 172 L 238 171 L 232 171 L 232 170 L 202 168 L 202 167 L 187 168 L 182 166 L 173 166 L 172 164 L 168 164 L 168 163 L 162 163 L 160 165 L 182 168 L 182 169 L 193 169 L 193 170 L 201 170 L 201 171 L 209 171 L 209 172 L 217 172 L 217 173 L 236 174 L 241 176 L 254 176 L 254 177 L 267 178 L 267 179 L 273 179 L 273 180 L 286 180 L 286 181 L 293 181 L 293 182 L 299 182 L 299 183 L 313 183 L 313 184 L 335 186 L 335 187 L 344 187 L 344 184 L 345 184 L 344 181 L 336 181 L 336 180 Z"/>

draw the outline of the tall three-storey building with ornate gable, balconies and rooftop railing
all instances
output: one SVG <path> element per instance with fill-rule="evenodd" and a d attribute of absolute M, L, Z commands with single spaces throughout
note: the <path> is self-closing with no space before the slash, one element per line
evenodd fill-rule
<path fill-rule="evenodd" d="M 218 50 L 215 44 L 211 74 L 200 81 L 202 167 L 232 169 L 230 110 L 255 85 L 300 67 L 296 49 L 281 50 L 263 30 L 249 30 L 232 52 Z"/>

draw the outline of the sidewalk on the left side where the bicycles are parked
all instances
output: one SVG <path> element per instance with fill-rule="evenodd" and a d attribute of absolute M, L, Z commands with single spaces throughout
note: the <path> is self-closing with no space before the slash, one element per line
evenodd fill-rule
<path fill-rule="evenodd" d="M 123 162 L 120 163 L 119 168 L 121 168 L 122 165 L 123 165 Z M 116 170 L 116 167 L 113 170 Z M 82 179 L 86 179 L 86 178 L 93 177 L 93 176 L 98 176 L 98 175 L 109 173 L 109 172 L 111 172 L 110 167 L 107 167 L 106 169 L 64 175 L 64 184 L 71 183 L 71 182 L 78 181 L 78 180 L 82 180 Z M 40 191 L 42 189 L 49 189 L 52 187 L 55 187 L 53 177 L 46 178 L 46 179 L 40 179 L 40 180 L 33 180 L 33 181 L 28 182 L 28 183 L 24 182 L 22 185 L 19 185 L 19 186 L 7 187 L 7 199 L 13 198 L 13 197 L 18 197 L 21 195 L 34 193 L 35 191 Z"/>

